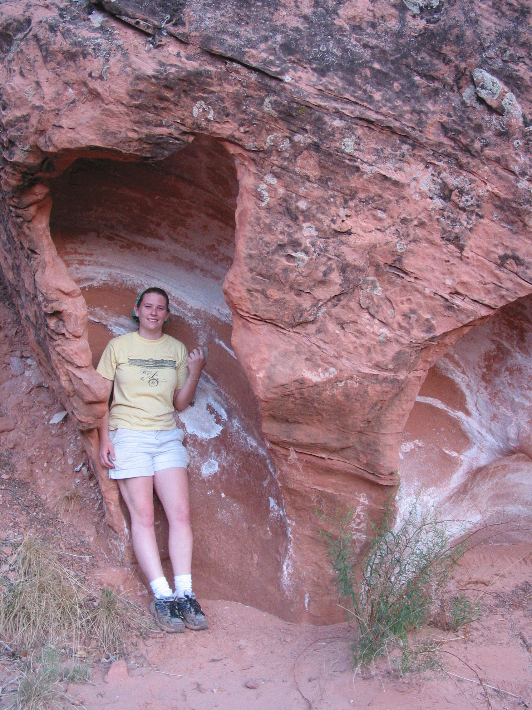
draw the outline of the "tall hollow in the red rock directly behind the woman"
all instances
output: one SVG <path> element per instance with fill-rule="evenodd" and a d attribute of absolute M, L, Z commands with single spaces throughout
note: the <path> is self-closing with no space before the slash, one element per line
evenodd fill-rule
<path fill-rule="evenodd" d="M 87 303 L 93 366 L 111 337 L 135 329 L 133 303 L 150 285 L 170 296 L 165 332 L 189 350 L 208 346 L 194 403 L 176 415 L 190 457 L 194 576 L 204 596 L 275 611 L 284 506 L 222 291 L 235 249 L 233 157 L 199 135 L 157 161 L 77 158 L 50 194 L 50 235 Z M 167 557 L 161 511 L 156 530 Z"/>

